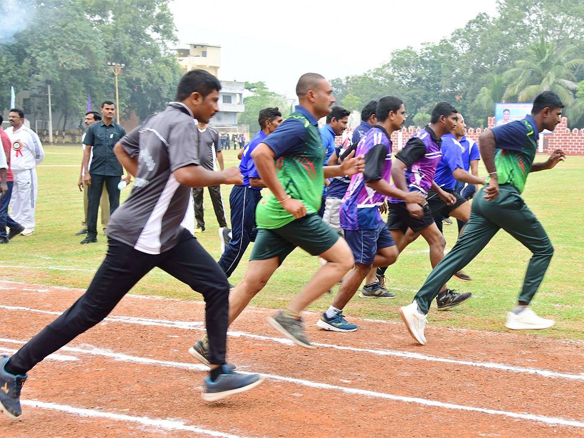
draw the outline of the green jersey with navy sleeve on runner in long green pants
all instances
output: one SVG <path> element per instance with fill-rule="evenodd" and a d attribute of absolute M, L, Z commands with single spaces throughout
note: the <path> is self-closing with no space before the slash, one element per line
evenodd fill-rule
<path fill-rule="evenodd" d="M 523 192 L 531 172 L 539 138 L 537 125 L 531 116 L 493 128 L 496 147 L 495 167 L 499 185 L 511 184 Z"/>

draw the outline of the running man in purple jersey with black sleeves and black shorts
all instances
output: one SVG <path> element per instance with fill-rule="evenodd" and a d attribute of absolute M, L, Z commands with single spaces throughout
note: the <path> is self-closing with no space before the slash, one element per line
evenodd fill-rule
<path fill-rule="evenodd" d="M 391 169 L 391 178 L 398 189 L 410 192 L 421 192 L 429 196 L 432 189 L 449 206 L 456 203 L 453 194 L 444 192 L 435 182 L 434 174 L 442 152 L 440 138 L 450 133 L 456 127 L 458 120 L 457 110 L 448 102 L 438 102 L 432 110 L 432 119 L 422 131 L 408 140 L 405 147 L 399 151 L 395 164 Z M 387 228 L 390 229 L 398 252 L 412 240 L 406 237 L 408 228 L 419 233 L 430 246 L 430 263 L 436 266 L 444 257 L 444 237 L 432 217 L 429 206 L 421 207 L 416 203 L 406 203 L 401 199 L 388 197 Z M 472 296 L 471 293 L 456 293 L 446 286 L 437 297 L 438 309 L 448 310 L 463 303 Z"/>

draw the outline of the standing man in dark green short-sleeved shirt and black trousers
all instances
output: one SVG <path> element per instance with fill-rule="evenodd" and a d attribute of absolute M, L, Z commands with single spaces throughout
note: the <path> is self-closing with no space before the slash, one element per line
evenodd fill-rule
<path fill-rule="evenodd" d="M 98 209 L 99 200 L 102 197 L 105 185 L 110 201 L 110 214 L 120 206 L 120 183 L 124 172 L 113 147 L 126 135 L 126 130 L 113 121 L 116 114 L 116 106 L 110 100 L 102 103 L 102 120 L 89 126 L 83 143 L 86 145 L 83 166 L 85 169 L 84 182 L 88 186 L 87 194 L 87 237 L 81 241 L 81 245 L 93 244 L 98 241 Z M 92 155 L 91 166 L 89 157 Z M 130 182 L 130 175 L 125 178 Z"/>

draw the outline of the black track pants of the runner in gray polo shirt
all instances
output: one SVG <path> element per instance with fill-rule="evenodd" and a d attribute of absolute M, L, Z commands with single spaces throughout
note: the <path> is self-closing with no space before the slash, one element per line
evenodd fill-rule
<path fill-rule="evenodd" d="M 201 293 L 211 350 L 210 363 L 225 362 L 229 283 L 223 270 L 190 232 L 161 254 L 147 254 L 114 239 L 89 288 L 67 311 L 47 325 L 9 360 L 12 371 L 25 374 L 37 363 L 98 324 L 152 268 L 158 266 Z"/>

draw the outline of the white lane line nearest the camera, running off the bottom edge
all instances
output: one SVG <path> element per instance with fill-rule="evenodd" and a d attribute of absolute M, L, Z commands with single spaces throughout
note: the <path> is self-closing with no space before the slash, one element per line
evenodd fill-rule
<path fill-rule="evenodd" d="M 55 403 L 47 403 L 33 400 L 21 400 L 20 403 L 25 406 L 30 406 L 32 408 L 52 409 L 53 411 L 72 413 L 74 415 L 79 415 L 82 417 L 106 418 L 109 420 L 127 421 L 132 423 L 138 423 L 142 426 L 153 426 L 158 427 L 159 429 L 166 430 L 186 430 L 187 432 L 200 433 L 218 438 L 244 438 L 242 436 L 234 435 L 231 433 L 217 432 L 217 430 L 208 430 L 202 429 L 201 427 L 189 426 L 186 425 L 184 422 L 177 420 L 154 419 L 145 416 L 135 417 L 131 415 L 124 415 L 121 413 L 95 411 L 93 409 L 74 408 L 73 406 L 57 405 Z"/>

